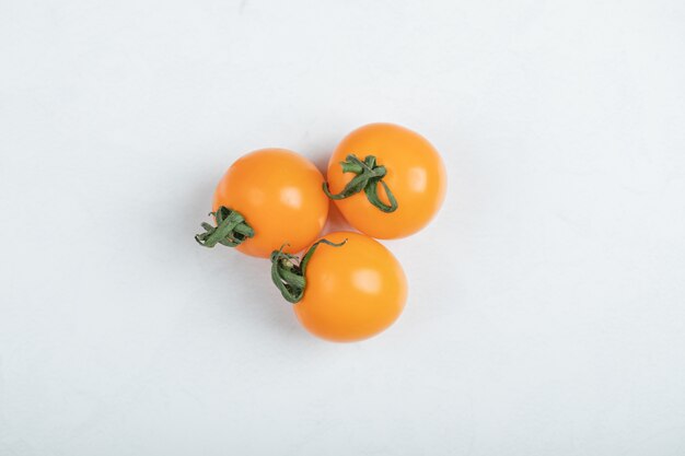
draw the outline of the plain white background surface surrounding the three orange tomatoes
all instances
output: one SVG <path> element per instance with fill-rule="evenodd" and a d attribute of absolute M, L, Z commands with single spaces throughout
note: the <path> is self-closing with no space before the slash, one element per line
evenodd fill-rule
<path fill-rule="evenodd" d="M 0 454 L 685 454 L 682 1 L 0 0 Z M 198 247 L 241 154 L 370 121 L 450 188 L 400 320 Z"/>

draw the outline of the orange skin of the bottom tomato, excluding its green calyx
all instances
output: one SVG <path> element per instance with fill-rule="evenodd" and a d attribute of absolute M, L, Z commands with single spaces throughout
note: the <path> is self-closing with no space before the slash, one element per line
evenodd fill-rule
<path fill-rule="evenodd" d="M 363 234 L 336 232 L 324 238 L 306 267 L 302 301 L 293 305 L 313 335 L 336 342 L 372 337 L 391 326 L 407 299 L 407 280 L 397 259 Z"/>

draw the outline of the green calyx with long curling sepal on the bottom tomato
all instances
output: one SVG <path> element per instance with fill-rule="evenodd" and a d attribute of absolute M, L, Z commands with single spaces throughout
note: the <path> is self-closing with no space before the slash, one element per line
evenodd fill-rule
<path fill-rule="evenodd" d="M 306 265 L 309 264 L 314 250 L 320 244 L 330 245 L 333 247 L 341 247 L 347 239 L 339 244 L 332 243 L 328 239 L 321 239 L 315 242 L 309 250 L 299 260 L 297 255 L 287 254 L 281 246 L 279 250 L 271 253 L 271 280 L 274 284 L 280 290 L 286 301 L 289 303 L 298 303 L 304 296 L 304 289 L 306 287 Z"/>

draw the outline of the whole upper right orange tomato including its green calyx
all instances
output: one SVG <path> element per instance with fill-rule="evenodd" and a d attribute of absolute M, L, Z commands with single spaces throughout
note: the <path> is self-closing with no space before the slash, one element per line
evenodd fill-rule
<path fill-rule="evenodd" d="M 324 190 L 345 219 L 383 239 L 426 226 L 442 206 L 448 180 L 430 142 L 393 124 L 370 124 L 349 133 L 333 153 L 327 177 Z"/>

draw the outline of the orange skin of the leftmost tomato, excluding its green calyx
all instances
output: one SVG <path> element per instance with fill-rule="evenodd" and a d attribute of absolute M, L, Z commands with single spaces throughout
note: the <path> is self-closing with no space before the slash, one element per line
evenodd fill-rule
<path fill-rule="evenodd" d="M 295 152 L 260 149 L 243 155 L 225 172 L 212 208 L 239 211 L 254 229 L 254 237 L 237 250 L 268 258 L 288 243 L 285 252 L 297 253 L 312 244 L 326 223 L 328 199 L 323 182 L 316 166 Z"/>

